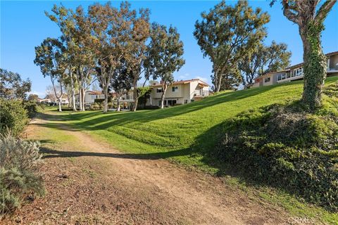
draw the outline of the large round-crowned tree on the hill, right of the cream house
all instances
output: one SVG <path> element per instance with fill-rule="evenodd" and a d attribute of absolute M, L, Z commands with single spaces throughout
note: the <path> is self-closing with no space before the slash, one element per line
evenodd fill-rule
<path fill-rule="evenodd" d="M 194 36 L 204 56 L 213 63 L 211 78 L 215 91 L 220 91 L 223 78 L 230 80 L 227 76 L 234 75 L 232 70 L 239 60 L 265 37 L 263 26 L 270 16 L 261 8 L 253 10 L 247 1 L 238 1 L 235 6 L 221 1 L 209 13 L 201 13 L 201 17 L 201 21 L 196 21 Z"/>

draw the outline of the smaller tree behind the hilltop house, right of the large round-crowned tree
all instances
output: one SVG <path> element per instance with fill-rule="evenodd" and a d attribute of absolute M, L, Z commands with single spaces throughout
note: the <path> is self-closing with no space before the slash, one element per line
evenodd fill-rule
<path fill-rule="evenodd" d="M 239 60 L 243 85 L 248 88 L 255 77 L 283 70 L 289 65 L 290 57 L 291 51 L 287 51 L 287 44 L 277 44 L 275 41 L 270 46 L 259 44 L 250 54 Z"/>

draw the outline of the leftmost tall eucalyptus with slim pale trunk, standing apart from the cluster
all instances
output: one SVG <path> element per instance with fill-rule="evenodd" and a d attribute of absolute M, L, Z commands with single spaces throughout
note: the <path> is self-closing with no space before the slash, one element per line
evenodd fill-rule
<path fill-rule="evenodd" d="M 49 76 L 53 85 L 54 94 L 58 99 L 58 110 L 61 109 L 61 98 L 63 96 L 63 79 L 65 79 L 65 62 L 63 44 L 58 39 L 47 38 L 42 41 L 40 46 L 35 47 L 35 65 L 39 65 L 42 75 Z M 56 85 L 60 85 L 60 91 L 56 90 Z"/>

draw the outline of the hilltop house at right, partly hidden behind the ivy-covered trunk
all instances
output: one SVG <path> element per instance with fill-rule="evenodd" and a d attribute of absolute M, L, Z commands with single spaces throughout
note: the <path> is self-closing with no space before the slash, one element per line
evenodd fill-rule
<path fill-rule="evenodd" d="M 325 56 L 327 57 L 327 76 L 338 75 L 338 51 L 327 53 Z M 285 68 L 285 70 L 268 72 L 265 75 L 256 77 L 253 87 L 280 84 L 299 79 L 303 79 L 303 63 L 292 65 Z"/>

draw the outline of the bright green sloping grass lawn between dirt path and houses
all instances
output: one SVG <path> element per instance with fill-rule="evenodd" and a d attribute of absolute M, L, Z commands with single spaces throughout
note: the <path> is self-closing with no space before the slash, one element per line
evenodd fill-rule
<path fill-rule="evenodd" d="M 337 81 L 338 77 L 329 77 L 325 84 Z M 297 81 L 243 91 L 226 91 L 202 101 L 163 110 L 106 114 L 68 111 L 58 113 L 56 118 L 72 124 L 76 129 L 89 132 L 97 139 L 108 141 L 119 150 L 133 153 L 135 157 L 168 158 L 216 174 L 222 165 L 208 153 L 212 152 L 222 136 L 225 120 L 250 108 L 282 103 L 290 98 L 299 99 L 302 89 L 303 81 Z M 280 198 L 281 195 L 277 196 Z M 271 201 L 290 207 L 289 200 L 285 200 L 289 197 L 276 198 Z M 302 205 L 299 202 L 297 204 Z M 295 207 L 299 208 L 299 205 Z M 337 214 L 306 205 L 301 207 L 305 207 L 305 210 L 297 211 L 291 207 L 289 211 L 295 210 L 296 215 L 308 217 L 321 214 L 321 218 L 333 221 L 333 224 L 338 221 Z"/>

